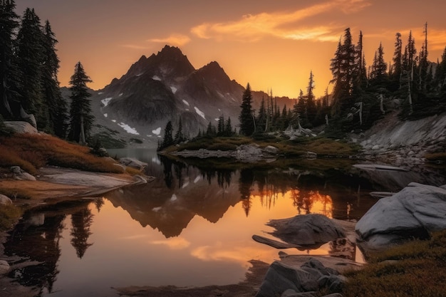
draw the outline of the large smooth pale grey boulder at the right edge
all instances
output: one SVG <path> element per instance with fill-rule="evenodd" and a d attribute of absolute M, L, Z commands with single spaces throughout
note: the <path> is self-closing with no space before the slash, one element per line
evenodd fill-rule
<path fill-rule="evenodd" d="M 413 236 L 446 229 L 446 189 L 412 182 L 380 199 L 356 224 L 365 249 L 382 249 Z"/>

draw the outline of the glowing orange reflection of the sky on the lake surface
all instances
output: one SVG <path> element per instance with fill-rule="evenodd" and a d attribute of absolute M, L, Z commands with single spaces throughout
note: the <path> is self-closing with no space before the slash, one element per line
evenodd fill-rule
<path fill-rule="evenodd" d="M 71 245 L 71 217 L 61 239 L 56 284 L 51 296 L 106 296 L 119 286 L 204 286 L 237 283 L 244 279 L 251 259 L 271 263 L 278 251 L 256 243 L 253 234 L 269 236 L 269 219 L 297 214 L 296 192 L 261 198 L 253 193 L 247 217 L 243 202 L 229 207 L 216 224 L 195 216 L 180 236 L 168 239 L 157 229 L 143 228 L 128 212 L 105 199 L 100 212 L 90 204 L 93 224 L 88 247 L 78 259 Z M 330 217 L 331 199 L 313 193 L 311 212 Z M 326 202 L 326 203 L 323 203 Z M 325 209 L 325 210 L 324 210 Z M 328 254 L 328 244 L 315 251 L 285 250 L 289 254 Z M 61 291 L 59 291 L 61 290 Z"/>

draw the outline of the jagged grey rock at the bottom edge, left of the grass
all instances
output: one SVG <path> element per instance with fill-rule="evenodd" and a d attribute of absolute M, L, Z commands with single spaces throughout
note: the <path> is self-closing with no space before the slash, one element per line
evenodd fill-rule
<path fill-rule="evenodd" d="M 301 267 L 274 261 L 269 266 L 256 297 L 266 296 L 316 296 L 321 288 L 338 293 L 346 282 L 338 271 L 327 268 L 316 259 L 310 259 Z"/>

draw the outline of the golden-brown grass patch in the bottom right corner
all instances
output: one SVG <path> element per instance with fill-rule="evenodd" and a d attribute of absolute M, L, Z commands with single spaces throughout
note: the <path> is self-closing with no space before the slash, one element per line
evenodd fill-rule
<path fill-rule="evenodd" d="M 446 230 L 375 254 L 361 271 L 346 273 L 343 296 L 446 296 Z"/>

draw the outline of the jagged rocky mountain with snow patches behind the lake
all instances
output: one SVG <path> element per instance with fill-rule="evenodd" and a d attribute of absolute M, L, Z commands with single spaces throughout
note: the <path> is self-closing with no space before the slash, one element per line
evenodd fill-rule
<path fill-rule="evenodd" d="M 236 126 L 244 90 L 216 61 L 195 69 L 180 48 L 165 46 L 93 92 L 93 134 L 106 147 L 156 147 L 169 120 L 174 133 L 181 120 L 183 133 L 191 137 L 206 130 L 209 122 L 217 125 L 221 115 Z M 267 98 L 266 93 L 253 92 L 256 110 L 261 98 Z"/>

